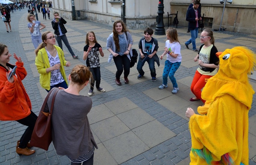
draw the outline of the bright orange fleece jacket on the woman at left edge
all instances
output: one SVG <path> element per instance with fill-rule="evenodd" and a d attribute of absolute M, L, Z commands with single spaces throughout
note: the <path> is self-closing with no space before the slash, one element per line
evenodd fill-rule
<path fill-rule="evenodd" d="M 13 68 L 14 65 L 7 63 L 7 66 Z M 7 80 L 6 72 L 8 70 L 0 65 L 0 120 L 20 120 L 31 113 L 31 102 L 28 94 L 21 82 L 26 75 L 26 69 L 23 62 L 16 62 L 17 70 L 14 76 L 14 82 Z"/>

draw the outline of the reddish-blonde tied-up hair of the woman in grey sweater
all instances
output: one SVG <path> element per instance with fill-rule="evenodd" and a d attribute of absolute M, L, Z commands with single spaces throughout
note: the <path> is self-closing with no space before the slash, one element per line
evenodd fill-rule
<path fill-rule="evenodd" d="M 82 85 L 88 80 L 93 79 L 93 75 L 89 70 L 89 67 L 84 65 L 75 65 L 75 67 L 70 72 L 70 77 L 73 83 Z"/>

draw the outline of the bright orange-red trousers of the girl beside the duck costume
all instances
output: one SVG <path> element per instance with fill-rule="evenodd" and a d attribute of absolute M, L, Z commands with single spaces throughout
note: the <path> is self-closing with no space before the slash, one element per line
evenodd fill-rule
<path fill-rule="evenodd" d="M 190 86 L 190 90 L 192 91 L 192 93 L 200 100 L 202 100 L 203 103 L 205 103 L 205 100 L 202 99 L 201 97 L 201 93 L 202 93 L 202 88 L 204 87 L 204 85 L 206 84 L 205 79 L 209 79 L 212 76 L 209 75 L 203 75 L 200 74 L 198 71 L 196 71 L 193 81 L 191 83 Z"/>

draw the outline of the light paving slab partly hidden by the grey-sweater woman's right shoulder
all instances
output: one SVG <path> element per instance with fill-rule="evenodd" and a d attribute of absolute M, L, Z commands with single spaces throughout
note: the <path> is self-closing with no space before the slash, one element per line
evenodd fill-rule
<path fill-rule="evenodd" d="M 90 113 L 87 115 L 90 124 L 97 123 L 112 116 L 114 116 L 113 112 L 105 104 L 92 107 Z"/>

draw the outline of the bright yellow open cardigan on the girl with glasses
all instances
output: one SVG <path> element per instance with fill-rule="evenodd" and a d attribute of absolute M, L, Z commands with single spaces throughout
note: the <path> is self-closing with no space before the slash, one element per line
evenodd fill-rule
<path fill-rule="evenodd" d="M 61 67 L 59 68 L 60 73 L 68 85 L 67 77 L 65 74 L 65 69 L 63 67 L 64 65 L 66 66 L 66 62 L 67 62 L 65 60 L 64 53 L 60 47 L 58 47 L 56 45 L 53 45 L 53 46 L 56 48 L 58 55 L 59 55 L 59 60 L 60 60 L 60 64 L 61 64 Z M 38 70 L 38 73 L 40 74 L 39 81 L 40 81 L 41 87 L 44 89 L 50 90 L 51 72 L 46 73 L 46 68 L 50 68 L 50 62 L 49 62 L 45 48 L 42 48 L 38 51 L 38 54 L 35 57 L 35 65 Z"/>

